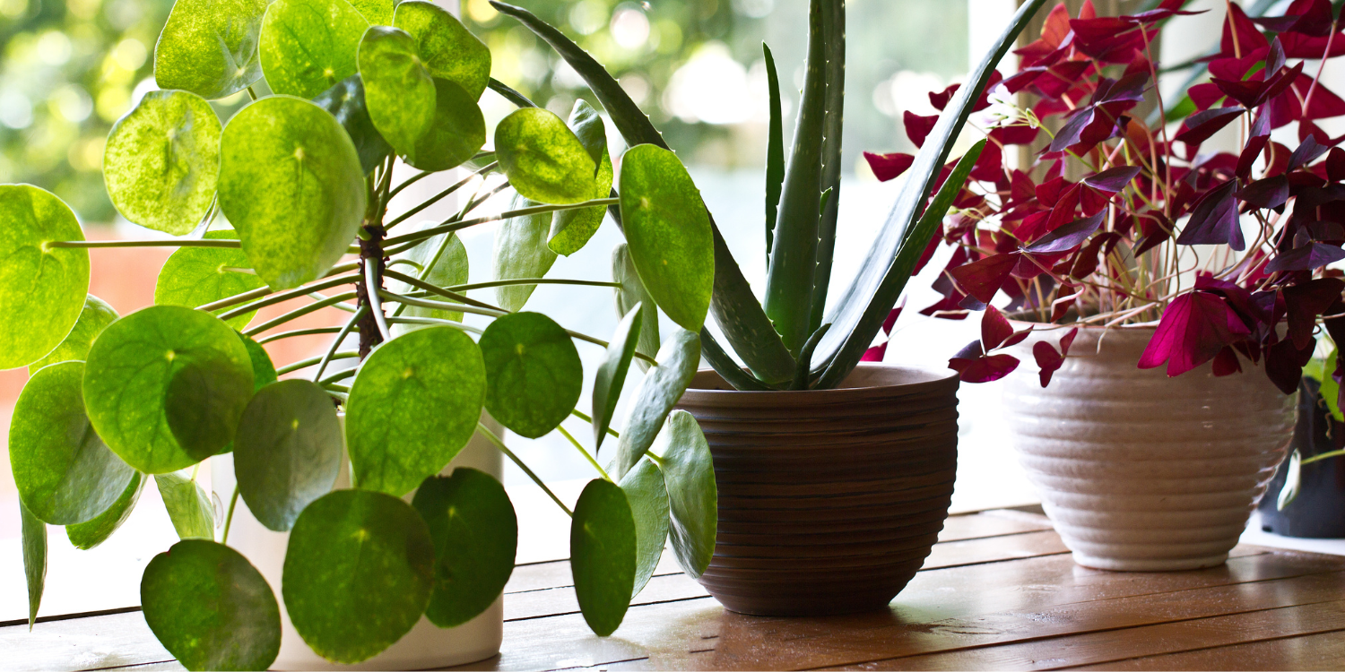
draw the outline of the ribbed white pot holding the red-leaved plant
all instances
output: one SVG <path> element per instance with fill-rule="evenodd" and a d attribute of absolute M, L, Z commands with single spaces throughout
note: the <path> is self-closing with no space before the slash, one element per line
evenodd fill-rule
<path fill-rule="evenodd" d="M 1048 333 L 1054 344 L 1064 331 Z M 1294 435 L 1295 395 L 1263 368 L 1244 362 L 1224 378 L 1208 363 L 1177 378 L 1138 368 L 1153 333 L 1081 328 L 1046 388 L 1032 364 L 1034 336 L 1005 380 L 1010 442 L 1085 567 L 1221 564 Z"/>

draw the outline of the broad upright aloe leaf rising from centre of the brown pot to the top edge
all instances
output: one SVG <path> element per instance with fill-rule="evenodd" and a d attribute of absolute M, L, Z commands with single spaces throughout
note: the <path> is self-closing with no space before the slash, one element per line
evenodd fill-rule
<path fill-rule="evenodd" d="M 822 0 L 808 11 L 808 60 L 794 129 L 794 152 L 784 173 L 780 211 L 775 222 L 771 270 L 763 308 L 784 347 L 795 358 L 812 333 L 812 282 L 818 262 L 818 222 L 822 198 L 822 122 L 826 118 L 826 44 Z"/>

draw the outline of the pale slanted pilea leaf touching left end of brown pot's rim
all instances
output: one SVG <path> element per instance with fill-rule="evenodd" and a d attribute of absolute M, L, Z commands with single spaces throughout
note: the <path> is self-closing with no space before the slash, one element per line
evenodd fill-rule
<path fill-rule="evenodd" d="M 701 363 L 701 337 L 678 329 L 659 348 L 656 359 L 659 366 L 644 375 L 621 427 L 621 439 L 616 446 L 617 478 L 625 476 L 650 450 L 663 429 L 663 419 L 691 383 Z"/>

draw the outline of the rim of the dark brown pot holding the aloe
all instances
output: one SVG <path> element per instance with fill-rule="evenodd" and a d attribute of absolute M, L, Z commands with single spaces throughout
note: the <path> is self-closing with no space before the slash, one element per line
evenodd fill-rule
<path fill-rule="evenodd" d="M 874 396 L 876 394 L 894 392 L 898 394 L 951 394 L 958 390 L 958 372 L 951 368 L 931 367 L 931 366 L 916 366 L 916 364 L 886 364 L 882 362 L 861 362 L 859 366 L 842 380 L 842 386 L 847 383 L 857 383 L 857 379 L 865 379 L 863 383 L 873 382 L 873 378 L 886 376 L 901 378 L 909 376 L 916 378 L 916 380 L 909 382 L 896 382 L 892 384 L 854 384 L 850 387 L 835 387 L 830 390 L 734 390 L 724 378 L 713 368 L 702 368 L 695 372 L 691 378 L 691 384 L 687 386 L 686 392 L 682 395 L 683 401 L 698 399 L 702 402 L 729 402 L 746 401 L 753 398 L 769 398 L 773 402 L 845 402 L 847 399 L 866 399 Z M 722 386 L 722 387 L 720 387 Z"/>

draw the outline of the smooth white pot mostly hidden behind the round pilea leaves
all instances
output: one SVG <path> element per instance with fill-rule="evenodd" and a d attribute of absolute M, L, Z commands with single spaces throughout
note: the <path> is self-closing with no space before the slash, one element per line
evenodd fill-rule
<path fill-rule="evenodd" d="M 504 431 L 488 414 L 482 414 L 482 422 L 498 435 Z M 344 415 L 342 417 L 342 427 L 344 429 Z M 342 460 L 340 476 L 336 478 L 338 489 L 350 488 L 348 464 L 348 461 Z M 227 507 L 235 482 L 233 454 L 210 458 L 210 466 L 215 495 Z M 448 474 L 457 466 L 480 469 L 503 480 L 500 453 L 480 434 L 473 434 L 467 448 L 441 473 Z M 410 497 L 408 495 L 405 499 L 410 501 Z M 496 599 L 482 616 L 457 628 L 438 628 L 428 618 L 421 617 L 420 622 L 397 644 L 363 663 L 340 665 L 323 659 L 313 653 L 295 630 L 295 625 L 289 622 L 289 614 L 285 612 L 285 601 L 280 595 L 281 569 L 285 563 L 288 544 L 289 532 L 268 530 L 247 511 L 247 504 L 243 503 L 242 497 L 238 499 L 233 527 L 229 532 L 229 546 L 252 560 L 270 583 L 272 590 L 276 591 L 276 599 L 280 602 L 280 655 L 276 656 L 272 669 L 429 669 L 476 663 L 499 653 L 504 634 L 503 598 Z"/>

